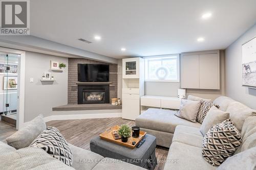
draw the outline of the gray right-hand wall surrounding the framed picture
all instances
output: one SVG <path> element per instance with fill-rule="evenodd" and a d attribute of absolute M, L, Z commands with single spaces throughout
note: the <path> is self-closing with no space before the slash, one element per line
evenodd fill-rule
<path fill-rule="evenodd" d="M 256 89 L 242 86 L 242 44 L 256 36 L 256 25 L 225 50 L 226 95 L 256 109 Z"/>

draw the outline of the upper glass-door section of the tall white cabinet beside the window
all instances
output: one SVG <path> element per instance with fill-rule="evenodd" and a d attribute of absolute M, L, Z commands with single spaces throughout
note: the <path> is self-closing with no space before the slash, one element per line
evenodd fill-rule
<path fill-rule="evenodd" d="M 144 72 L 144 60 L 140 57 L 123 59 L 123 79 L 138 79 Z"/>

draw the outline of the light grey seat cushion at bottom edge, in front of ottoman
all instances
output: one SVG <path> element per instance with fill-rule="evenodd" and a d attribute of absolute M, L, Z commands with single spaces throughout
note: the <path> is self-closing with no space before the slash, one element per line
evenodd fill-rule
<path fill-rule="evenodd" d="M 104 158 L 102 159 L 93 170 L 103 170 L 103 169 L 111 169 L 111 170 L 145 170 L 140 166 L 133 165 L 131 163 L 126 163 L 117 159 L 112 158 Z"/>

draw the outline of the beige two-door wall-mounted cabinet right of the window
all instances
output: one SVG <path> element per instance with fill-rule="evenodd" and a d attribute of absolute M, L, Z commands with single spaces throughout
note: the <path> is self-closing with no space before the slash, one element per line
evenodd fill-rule
<path fill-rule="evenodd" d="M 220 89 L 220 51 L 182 53 L 181 87 Z"/>

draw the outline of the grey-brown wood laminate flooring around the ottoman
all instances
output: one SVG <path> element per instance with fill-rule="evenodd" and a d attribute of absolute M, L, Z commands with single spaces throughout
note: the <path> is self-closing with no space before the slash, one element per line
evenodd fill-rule
<path fill-rule="evenodd" d="M 133 120 L 126 120 L 122 118 L 98 118 L 98 119 L 77 119 L 77 120 L 54 120 L 46 123 L 47 126 L 53 126 L 59 129 L 65 139 L 76 145 L 77 147 L 90 150 L 90 140 L 98 136 L 106 129 L 121 124 L 134 126 Z M 16 132 L 16 128 L 0 121 L 0 140 L 5 142 L 5 138 Z M 155 170 L 161 170 L 164 167 L 163 160 L 166 160 L 168 148 L 157 146 L 156 157 L 159 160 Z"/>

